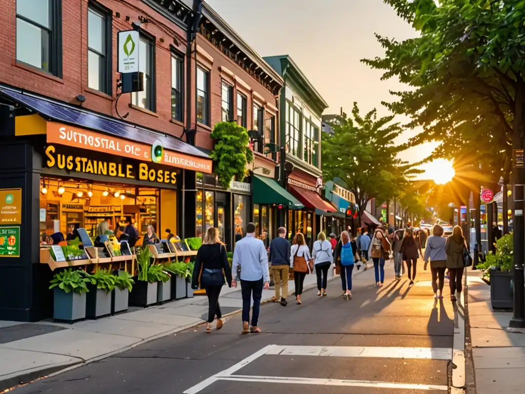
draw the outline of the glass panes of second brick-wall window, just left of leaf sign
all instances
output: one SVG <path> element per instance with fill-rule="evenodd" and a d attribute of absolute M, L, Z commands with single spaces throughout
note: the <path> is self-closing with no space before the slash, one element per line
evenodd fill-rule
<path fill-rule="evenodd" d="M 88 9 L 88 87 L 111 94 L 111 23 L 108 15 Z M 108 31 L 109 30 L 109 31 Z"/>

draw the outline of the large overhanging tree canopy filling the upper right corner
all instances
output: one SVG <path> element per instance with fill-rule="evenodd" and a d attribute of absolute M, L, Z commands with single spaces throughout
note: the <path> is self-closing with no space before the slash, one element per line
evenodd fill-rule
<path fill-rule="evenodd" d="M 431 158 L 468 155 L 492 178 L 507 177 L 525 127 L 525 1 L 384 1 L 420 35 L 376 35 L 385 56 L 362 61 L 411 88 L 384 102 L 411 117 L 407 127 L 423 128 L 411 146 L 441 141 Z"/>

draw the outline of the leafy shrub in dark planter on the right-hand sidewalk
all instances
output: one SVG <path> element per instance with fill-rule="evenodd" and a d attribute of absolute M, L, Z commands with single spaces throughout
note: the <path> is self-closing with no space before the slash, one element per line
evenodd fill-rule
<path fill-rule="evenodd" d="M 514 245 L 512 233 L 502 236 L 496 242 L 496 253 L 489 252 L 485 262 L 477 265 L 484 271 L 484 279 L 490 284 L 490 303 L 493 309 L 512 309 L 512 273 Z"/>

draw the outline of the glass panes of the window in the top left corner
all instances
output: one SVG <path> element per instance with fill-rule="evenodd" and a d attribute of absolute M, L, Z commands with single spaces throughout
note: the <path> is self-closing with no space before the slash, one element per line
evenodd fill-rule
<path fill-rule="evenodd" d="M 61 2 L 54 0 L 17 0 L 16 59 L 58 75 L 60 46 L 58 14 Z M 57 8 L 55 8 L 57 7 Z"/>

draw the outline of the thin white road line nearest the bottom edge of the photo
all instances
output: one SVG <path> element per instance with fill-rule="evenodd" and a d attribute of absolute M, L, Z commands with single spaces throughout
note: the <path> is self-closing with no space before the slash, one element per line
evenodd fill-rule
<path fill-rule="evenodd" d="M 342 387 L 369 387 L 385 389 L 404 389 L 404 390 L 443 390 L 447 391 L 447 386 L 438 385 L 419 385 L 411 383 L 391 383 L 372 380 L 352 380 L 352 379 L 319 379 L 319 378 L 292 378 L 280 376 L 250 376 L 250 375 L 229 375 L 217 376 L 218 380 L 256 382 L 256 383 L 288 383 L 293 385 L 317 385 L 317 386 L 342 386 Z"/>

